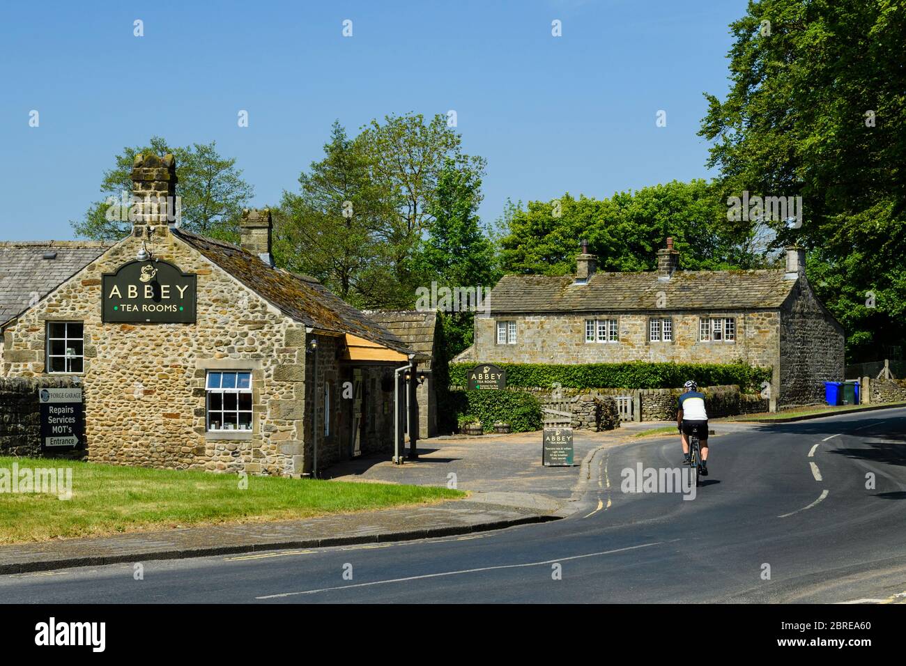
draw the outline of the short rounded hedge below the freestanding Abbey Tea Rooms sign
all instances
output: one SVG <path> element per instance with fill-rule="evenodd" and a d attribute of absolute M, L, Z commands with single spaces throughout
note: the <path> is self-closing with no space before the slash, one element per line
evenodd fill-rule
<path fill-rule="evenodd" d="M 475 417 L 485 432 L 494 431 L 494 423 L 510 424 L 513 432 L 541 430 L 541 403 L 532 393 L 521 391 L 449 391 L 447 409 L 457 417 Z"/>

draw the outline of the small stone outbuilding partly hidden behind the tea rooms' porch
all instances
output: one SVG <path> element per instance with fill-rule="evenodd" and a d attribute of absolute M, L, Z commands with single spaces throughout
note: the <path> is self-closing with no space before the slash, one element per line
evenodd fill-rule
<path fill-rule="evenodd" d="M 420 310 L 372 310 L 365 314 L 406 343 L 410 349 L 427 357 L 419 365 L 419 386 L 416 396 L 419 400 L 419 437 L 428 438 L 438 434 L 438 385 L 439 377 L 446 378 L 442 368 L 440 321 L 435 311 Z M 440 381 L 443 381 L 441 379 Z"/>

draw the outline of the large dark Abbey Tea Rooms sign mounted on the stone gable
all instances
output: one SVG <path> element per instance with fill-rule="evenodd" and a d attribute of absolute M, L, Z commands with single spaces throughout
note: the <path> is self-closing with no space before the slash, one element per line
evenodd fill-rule
<path fill-rule="evenodd" d="M 103 276 L 105 323 L 195 323 L 196 275 L 158 259 L 130 261 Z"/>

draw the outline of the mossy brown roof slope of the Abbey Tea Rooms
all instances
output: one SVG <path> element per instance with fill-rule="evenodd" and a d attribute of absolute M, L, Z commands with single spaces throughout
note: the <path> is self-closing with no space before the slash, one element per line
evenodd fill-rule
<path fill-rule="evenodd" d="M 352 333 L 395 352 L 413 352 L 399 337 L 343 301 L 313 277 L 295 275 L 266 265 L 257 256 L 228 243 L 197 236 L 183 229 L 173 229 L 172 233 L 297 322 L 327 333 Z"/>

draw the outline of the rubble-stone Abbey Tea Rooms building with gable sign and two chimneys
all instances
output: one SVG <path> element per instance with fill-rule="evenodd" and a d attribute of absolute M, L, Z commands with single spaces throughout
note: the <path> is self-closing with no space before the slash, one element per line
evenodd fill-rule
<path fill-rule="evenodd" d="M 426 356 L 317 280 L 276 268 L 269 211 L 246 211 L 233 246 L 168 219 L 172 156 L 137 156 L 132 180 L 130 236 L 40 247 L 55 259 L 16 250 L 8 261 L 39 295 L 5 294 L 0 311 L 0 375 L 80 378 L 89 459 L 316 475 L 392 449 L 406 420 L 418 430 Z"/>

